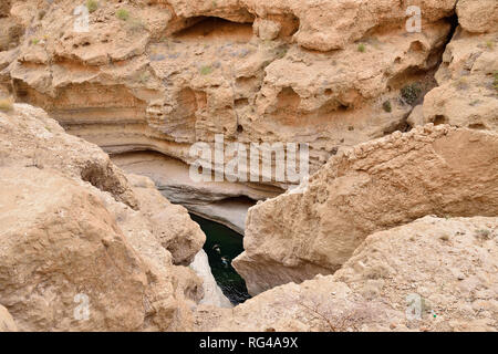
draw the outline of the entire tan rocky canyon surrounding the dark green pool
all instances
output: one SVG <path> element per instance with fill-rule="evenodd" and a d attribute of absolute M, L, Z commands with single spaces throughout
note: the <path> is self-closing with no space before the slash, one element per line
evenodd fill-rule
<path fill-rule="evenodd" d="M 0 331 L 497 331 L 497 127 L 496 0 L 3 0 Z"/>

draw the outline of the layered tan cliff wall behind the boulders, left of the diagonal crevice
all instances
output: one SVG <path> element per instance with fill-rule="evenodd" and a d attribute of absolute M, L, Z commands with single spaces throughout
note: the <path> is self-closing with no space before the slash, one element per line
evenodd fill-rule
<path fill-rule="evenodd" d="M 188 166 L 193 143 L 222 134 L 227 144 L 307 143 L 315 171 L 407 127 L 435 86 L 455 3 L 414 1 L 423 31 L 408 33 L 407 6 L 394 0 L 106 1 L 82 32 L 73 1 L 10 1 L 6 19 L 25 31 L 0 52 L 0 81 L 106 152 L 155 150 Z M 200 209 L 216 220 L 226 210 Z"/>

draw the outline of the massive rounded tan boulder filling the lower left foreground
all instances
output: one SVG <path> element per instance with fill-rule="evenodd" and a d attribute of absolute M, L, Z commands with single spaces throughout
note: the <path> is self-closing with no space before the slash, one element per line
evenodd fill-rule
<path fill-rule="evenodd" d="M 185 209 L 28 105 L 0 112 L 0 303 L 21 331 L 190 329 L 203 285 L 174 259 L 204 235 Z"/>

